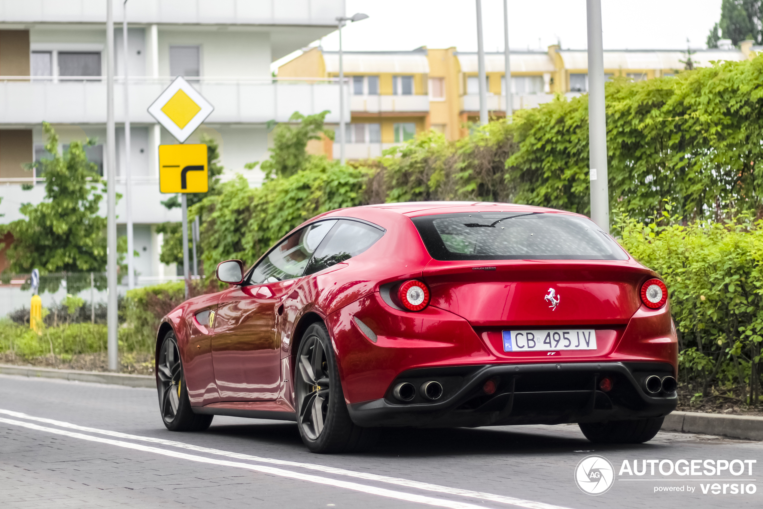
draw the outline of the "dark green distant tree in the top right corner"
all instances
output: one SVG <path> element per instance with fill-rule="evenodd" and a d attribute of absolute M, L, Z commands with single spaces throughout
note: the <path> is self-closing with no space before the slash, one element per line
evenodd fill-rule
<path fill-rule="evenodd" d="M 720 21 L 710 30 L 707 47 L 718 47 L 720 39 L 731 39 L 735 46 L 748 39 L 763 43 L 763 0 L 723 0 Z"/>

